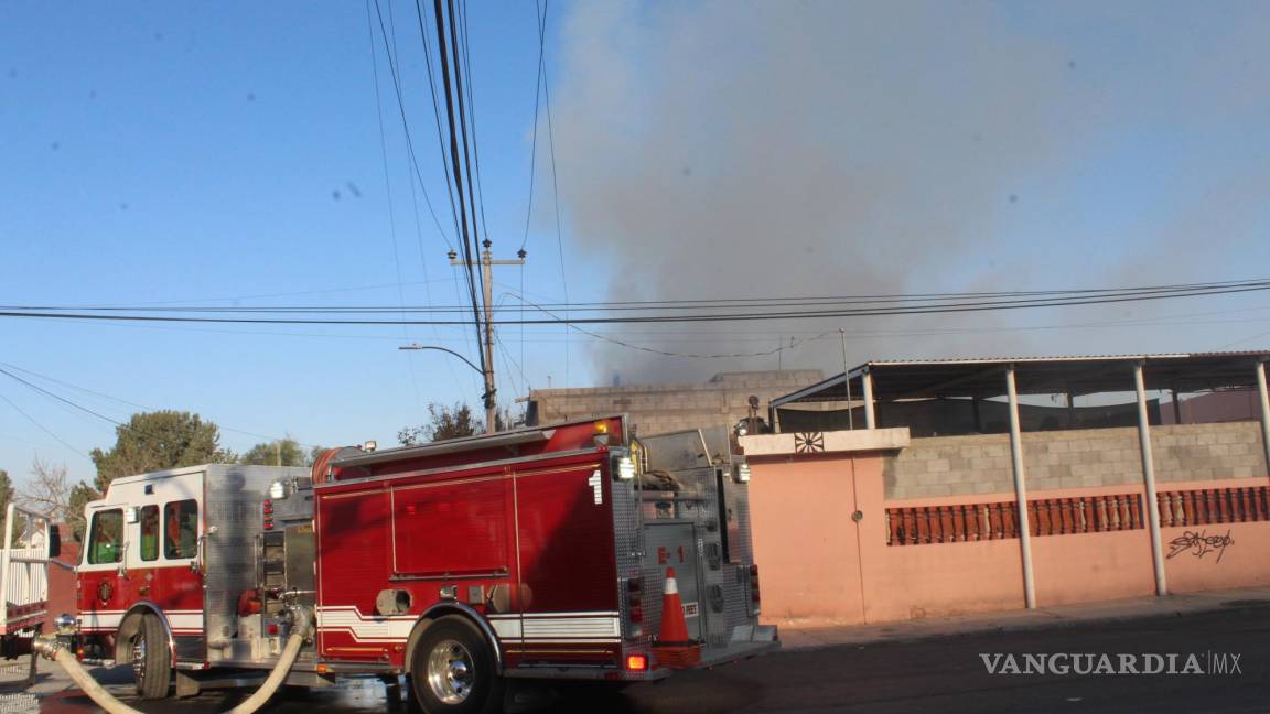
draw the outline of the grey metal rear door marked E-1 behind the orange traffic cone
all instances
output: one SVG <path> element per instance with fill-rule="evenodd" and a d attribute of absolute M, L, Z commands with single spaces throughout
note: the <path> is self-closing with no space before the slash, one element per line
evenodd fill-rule
<path fill-rule="evenodd" d="M 704 640 L 706 626 L 704 619 L 706 607 L 701 602 L 700 570 L 697 568 L 696 526 L 692 523 L 649 523 L 644 534 L 644 577 L 653 587 L 645 589 L 645 602 L 657 602 L 657 628 L 660 629 L 662 593 L 665 588 L 665 569 L 674 568 L 674 583 L 679 588 L 683 602 L 683 621 L 688 625 L 688 637 Z M 654 577 L 650 577 L 654 576 Z M 648 612 L 648 605 L 644 606 Z M 653 630 L 655 635 L 658 629 Z"/>

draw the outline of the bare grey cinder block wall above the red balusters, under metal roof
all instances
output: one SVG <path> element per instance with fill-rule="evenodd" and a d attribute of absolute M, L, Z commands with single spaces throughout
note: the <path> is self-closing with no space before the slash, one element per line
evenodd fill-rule
<path fill-rule="evenodd" d="M 1256 422 L 1151 428 L 1156 480 L 1266 475 Z M 1029 490 L 1142 483 L 1137 428 L 1024 434 Z M 888 499 L 1013 492 L 1008 434 L 914 438 L 885 460 Z"/>

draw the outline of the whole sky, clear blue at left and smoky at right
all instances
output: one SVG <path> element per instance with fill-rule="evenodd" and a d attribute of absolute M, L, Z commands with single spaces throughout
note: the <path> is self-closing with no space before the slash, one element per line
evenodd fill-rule
<path fill-rule="evenodd" d="M 381 6 L 447 226 L 414 4 Z M 470 11 L 485 217 L 511 257 L 530 185 L 535 6 Z M 1264 277 L 1266 14 L 1236 3 L 552 4 L 563 243 L 540 135 L 530 264 L 502 269 L 497 293 L 514 304 L 504 293 L 560 301 L 564 282 L 580 301 Z M 384 41 L 363 3 L 27 3 L 4 17 L 0 302 L 458 300 L 446 239 L 411 199 Z M 732 352 L 845 327 L 852 361 L 1209 349 L 1270 343 L 1250 340 L 1270 330 L 1267 305 L 1252 293 L 603 332 Z M 1101 325 L 1064 327 L 1091 323 Z M 474 356 L 470 332 L 5 320 L 0 362 L 126 400 L 25 374 L 121 421 L 136 405 L 197 410 L 240 451 L 259 436 L 391 442 L 428 403 L 475 404 L 480 391 L 452 357 L 396 347 Z M 504 399 L 615 374 L 698 380 L 777 363 L 653 358 L 563 328 L 505 328 L 500 342 Z M 834 338 L 780 363 L 839 362 Z M 20 480 L 38 454 L 91 479 L 83 454 L 113 442 L 109 423 L 11 380 L 0 395 L 30 417 L 0 400 L 0 468 Z"/>

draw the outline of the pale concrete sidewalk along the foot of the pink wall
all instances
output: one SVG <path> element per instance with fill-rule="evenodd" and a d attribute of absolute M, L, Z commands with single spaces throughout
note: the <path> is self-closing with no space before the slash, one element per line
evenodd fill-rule
<path fill-rule="evenodd" d="M 1185 616 L 1229 607 L 1270 607 L 1270 587 L 1189 592 L 1166 597 L 1083 602 L 1036 610 L 979 612 L 878 624 L 776 620 L 785 649 L 814 649 L 843 644 L 878 644 L 982 631 L 1025 631 L 1069 624 Z"/>

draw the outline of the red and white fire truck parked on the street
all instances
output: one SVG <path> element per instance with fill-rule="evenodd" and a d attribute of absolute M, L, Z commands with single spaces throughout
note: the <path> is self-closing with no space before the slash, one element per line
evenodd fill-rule
<path fill-rule="evenodd" d="M 624 417 L 121 478 L 86 508 L 62 635 L 151 699 L 173 671 L 179 696 L 274 667 L 296 603 L 316 634 L 288 684 L 404 673 L 427 711 L 486 711 L 514 681 L 657 680 L 779 647 L 748 479 L 728 429 L 636 440 Z M 690 658 L 659 649 L 668 568 Z"/>

